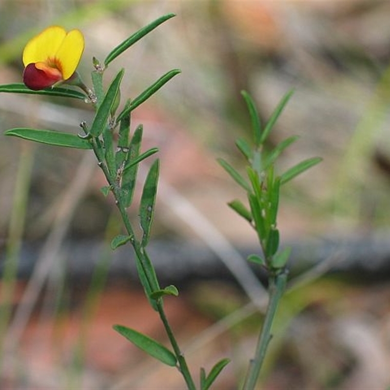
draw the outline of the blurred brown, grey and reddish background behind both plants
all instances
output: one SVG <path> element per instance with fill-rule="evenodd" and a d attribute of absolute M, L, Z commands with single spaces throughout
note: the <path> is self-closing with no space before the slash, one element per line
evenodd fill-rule
<path fill-rule="evenodd" d="M 143 147 L 160 150 L 150 254 L 161 283 L 180 289 L 166 310 L 194 376 L 229 357 L 215 388 L 239 386 L 262 319 L 254 301 L 265 297 L 264 274 L 245 261 L 256 236 L 226 205 L 245 194 L 216 158 L 243 167 L 234 141 L 251 130 L 241 90 L 265 122 L 293 88 L 270 146 L 300 139 L 278 169 L 324 160 L 283 187 L 291 278 L 259 388 L 386 389 L 390 2 L 1 0 L 0 83 L 20 82 L 26 42 L 59 24 L 83 32 L 78 71 L 90 85 L 93 56 L 103 60 L 170 12 L 176 18 L 110 64 L 105 81 L 124 67 L 121 95 L 134 98 L 182 71 L 134 112 L 132 129 L 143 123 Z M 130 246 L 109 247 L 121 224 L 92 154 L 2 135 L 75 134 L 91 118 L 82 102 L 0 95 L 0 389 L 183 388 L 175 369 L 112 330 L 119 323 L 166 342 Z M 137 208 L 129 213 L 137 223 Z"/>

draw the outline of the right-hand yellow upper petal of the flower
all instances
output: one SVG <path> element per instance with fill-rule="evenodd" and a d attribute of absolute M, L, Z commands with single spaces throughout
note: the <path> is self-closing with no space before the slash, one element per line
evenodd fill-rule
<path fill-rule="evenodd" d="M 82 52 L 84 51 L 84 37 L 79 30 L 72 30 L 66 34 L 56 53 L 56 60 L 61 64 L 62 77 L 70 78 L 75 72 Z"/>

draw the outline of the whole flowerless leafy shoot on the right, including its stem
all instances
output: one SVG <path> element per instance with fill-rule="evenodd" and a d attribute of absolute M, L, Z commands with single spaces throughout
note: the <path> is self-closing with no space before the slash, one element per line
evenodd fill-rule
<path fill-rule="evenodd" d="M 254 358 L 250 361 L 244 380 L 243 389 L 245 390 L 253 390 L 256 386 L 271 340 L 273 319 L 287 282 L 288 270 L 286 264 L 291 249 L 284 248 L 279 250 L 277 214 L 280 188 L 283 184 L 322 160 L 319 157 L 312 157 L 301 161 L 280 176 L 275 174 L 274 163 L 278 156 L 296 141 L 298 137 L 289 137 L 268 152 L 266 151 L 265 142 L 278 117 L 291 98 L 292 93 L 293 91 L 288 92 L 281 99 L 263 128 L 254 100 L 247 92 L 243 91 L 242 95 L 247 103 L 252 122 L 253 142 L 248 143 L 245 139 L 240 138 L 236 141 L 236 146 L 246 159 L 247 177 L 242 176 L 224 159 L 218 159 L 221 166 L 247 194 L 249 208 L 239 199 L 234 199 L 229 203 L 229 206 L 237 214 L 246 219 L 257 234 L 261 254 L 249 255 L 248 261 L 264 267 L 268 273 L 269 303 L 259 334 Z"/>

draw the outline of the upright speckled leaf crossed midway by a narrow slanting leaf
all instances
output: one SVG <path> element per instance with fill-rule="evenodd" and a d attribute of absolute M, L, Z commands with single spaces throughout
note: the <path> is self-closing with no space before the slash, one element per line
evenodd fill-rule
<path fill-rule="evenodd" d="M 142 125 L 139 125 L 131 138 L 129 145 L 129 152 L 127 155 L 126 164 L 135 160 L 139 156 L 139 150 L 142 142 Z M 125 207 L 129 207 L 134 195 L 134 189 L 136 187 L 138 165 L 133 165 L 131 168 L 123 172 L 121 181 L 121 190 L 123 193 L 123 202 Z"/>

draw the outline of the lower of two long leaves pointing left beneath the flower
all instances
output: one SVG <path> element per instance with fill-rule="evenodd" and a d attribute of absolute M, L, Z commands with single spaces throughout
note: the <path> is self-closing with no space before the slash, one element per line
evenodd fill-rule
<path fill-rule="evenodd" d="M 24 138 L 48 145 L 65 146 L 77 149 L 92 149 L 92 145 L 86 139 L 81 139 L 80 137 L 70 133 L 29 128 L 15 128 L 7 130 L 4 134 L 6 136 Z"/>

